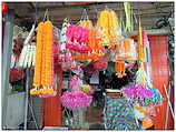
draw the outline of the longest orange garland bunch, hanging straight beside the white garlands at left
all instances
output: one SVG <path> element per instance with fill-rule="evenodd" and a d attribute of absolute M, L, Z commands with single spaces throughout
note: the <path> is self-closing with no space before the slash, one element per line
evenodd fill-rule
<path fill-rule="evenodd" d="M 53 26 L 50 21 L 40 22 L 37 31 L 37 51 L 31 94 L 55 95 L 53 91 Z"/>

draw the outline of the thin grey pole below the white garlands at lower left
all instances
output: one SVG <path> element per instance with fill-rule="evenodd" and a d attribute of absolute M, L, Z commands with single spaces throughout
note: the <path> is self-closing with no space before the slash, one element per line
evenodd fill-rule
<path fill-rule="evenodd" d="M 30 69 L 28 68 L 26 70 L 26 75 L 27 75 L 27 80 L 26 80 L 26 106 L 25 106 L 25 126 L 23 129 L 27 130 L 27 122 L 28 122 L 28 103 L 29 103 L 29 89 L 30 89 Z"/>

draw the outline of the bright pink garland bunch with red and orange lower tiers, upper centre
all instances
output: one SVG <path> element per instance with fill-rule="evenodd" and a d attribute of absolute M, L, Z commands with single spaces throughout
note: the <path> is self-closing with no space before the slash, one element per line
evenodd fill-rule
<path fill-rule="evenodd" d="M 88 57 L 91 52 L 91 48 L 88 45 L 88 29 L 75 24 L 70 26 L 66 32 L 69 40 L 66 48 L 71 51 L 72 58 L 81 65 L 91 61 Z"/>

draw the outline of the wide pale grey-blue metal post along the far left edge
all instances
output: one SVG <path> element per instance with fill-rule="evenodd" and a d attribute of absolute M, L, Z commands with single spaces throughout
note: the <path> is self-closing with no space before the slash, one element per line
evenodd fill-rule
<path fill-rule="evenodd" d="M 2 50 L 2 87 L 1 87 L 1 103 L 2 103 L 2 130 L 7 129 L 6 126 L 6 115 L 7 115 L 7 99 L 8 99 L 8 89 L 9 89 L 9 69 L 11 62 L 12 53 L 12 33 L 13 33 L 13 13 L 11 10 L 6 14 L 6 24 L 4 24 L 4 39 L 3 39 L 3 50 Z"/>

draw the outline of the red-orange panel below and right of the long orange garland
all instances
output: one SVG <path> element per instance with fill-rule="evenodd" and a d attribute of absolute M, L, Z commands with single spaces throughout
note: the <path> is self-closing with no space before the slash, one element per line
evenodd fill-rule
<path fill-rule="evenodd" d="M 43 106 L 43 126 L 62 125 L 62 108 L 60 102 L 62 89 L 62 70 L 61 65 L 56 68 L 57 74 L 57 95 L 53 98 L 42 99 Z"/>

